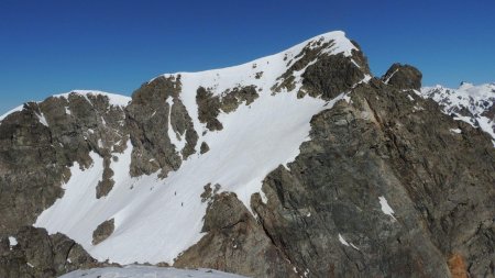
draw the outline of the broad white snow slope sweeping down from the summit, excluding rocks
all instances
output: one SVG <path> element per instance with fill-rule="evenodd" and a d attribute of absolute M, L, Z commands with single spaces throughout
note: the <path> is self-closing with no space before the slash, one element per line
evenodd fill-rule
<path fill-rule="evenodd" d="M 80 170 L 78 165 L 72 167 L 72 178 L 64 185 L 65 194 L 38 216 L 35 225 L 50 233 L 67 234 L 100 260 L 173 264 L 174 258 L 204 235 L 200 231 L 207 203 L 201 202 L 200 194 L 207 184 L 219 184 L 221 191 L 234 192 L 250 209 L 250 198 L 261 192 L 266 175 L 298 155 L 300 144 L 308 140 L 312 115 L 345 99 L 344 92 L 329 102 L 308 96 L 297 99 L 304 69 L 294 73 L 294 90 L 272 91 L 272 87 L 282 81 L 277 78 L 300 58 L 297 54 L 308 43 L 314 47 L 318 42 L 330 41 L 334 44 L 322 53 L 350 56 L 355 48 L 343 32 L 331 32 L 241 66 L 165 75 L 175 78 L 180 75 L 180 99 L 200 136 L 197 154 L 165 179 L 160 179 L 157 174 L 131 178 L 132 145 L 128 143 L 125 152 L 111 165 L 116 171 L 113 189 L 107 197 L 96 199 L 95 188 L 101 179 L 103 160 L 92 153 L 94 165 L 86 170 Z M 262 73 L 261 78 L 255 78 L 258 73 Z M 220 94 L 227 89 L 252 85 L 257 87 L 260 97 L 250 105 L 221 113 L 219 121 L 223 130 L 206 132 L 205 124 L 198 120 L 198 87 Z M 199 155 L 201 142 L 206 142 L 210 151 Z M 175 142 L 175 145 L 182 144 Z M 110 219 L 114 219 L 114 232 L 92 245 L 92 232 Z"/>

